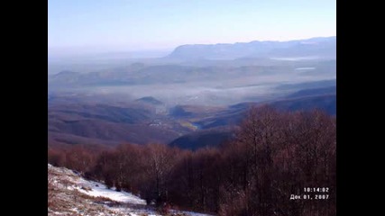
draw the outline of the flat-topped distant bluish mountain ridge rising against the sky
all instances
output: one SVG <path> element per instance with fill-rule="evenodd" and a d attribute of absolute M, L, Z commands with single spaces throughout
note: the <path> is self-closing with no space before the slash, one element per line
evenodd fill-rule
<path fill-rule="evenodd" d="M 335 58 L 335 48 L 336 36 L 289 41 L 253 40 L 233 44 L 186 44 L 174 49 L 168 58 Z"/>

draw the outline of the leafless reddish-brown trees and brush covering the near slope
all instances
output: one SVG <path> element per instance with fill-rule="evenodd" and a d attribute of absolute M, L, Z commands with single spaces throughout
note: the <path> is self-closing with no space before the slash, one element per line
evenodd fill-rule
<path fill-rule="evenodd" d="M 158 206 L 219 215 L 335 215 L 335 144 L 335 117 L 266 106 L 252 108 L 236 139 L 220 148 L 125 144 L 93 154 L 74 147 L 50 149 L 49 161 Z M 290 200 L 304 187 L 328 187 L 329 197 Z"/>

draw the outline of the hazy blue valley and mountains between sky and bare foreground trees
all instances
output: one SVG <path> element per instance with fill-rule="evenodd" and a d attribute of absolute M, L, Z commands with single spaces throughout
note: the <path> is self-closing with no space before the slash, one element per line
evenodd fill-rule
<path fill-rule="evenodd" d="M 49 59 L 49 144 L 195 149 L 231 139 L 252 104 L 335 114 L 335 42 L 254 40 L 181 45 L 158 58 Z"/>

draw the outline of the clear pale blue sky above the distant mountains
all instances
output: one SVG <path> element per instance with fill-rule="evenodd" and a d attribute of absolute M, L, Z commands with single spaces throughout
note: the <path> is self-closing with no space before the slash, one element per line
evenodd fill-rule
<path fill-rule="evenodd" d="M 48 0 L 48 49 L 56 51 L 335 35 L 335 0 Z"/>

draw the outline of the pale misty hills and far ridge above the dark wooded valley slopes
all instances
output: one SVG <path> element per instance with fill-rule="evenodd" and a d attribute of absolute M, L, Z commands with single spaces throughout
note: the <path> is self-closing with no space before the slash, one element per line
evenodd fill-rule
<path fill-rule="evenodd" d="M 57 63 L 51 61 L 49 67 L 63 70 L 49 75 L 49 93 L 112 98 L 119 94 L 133 100 L 153 96 L 170 105 L 230 105 L 298 91 L 280 85 L 334 80 L 336 70 L 335 37 L 186 45 L 162 58 L 129 56 L 55 58 Z"/>

